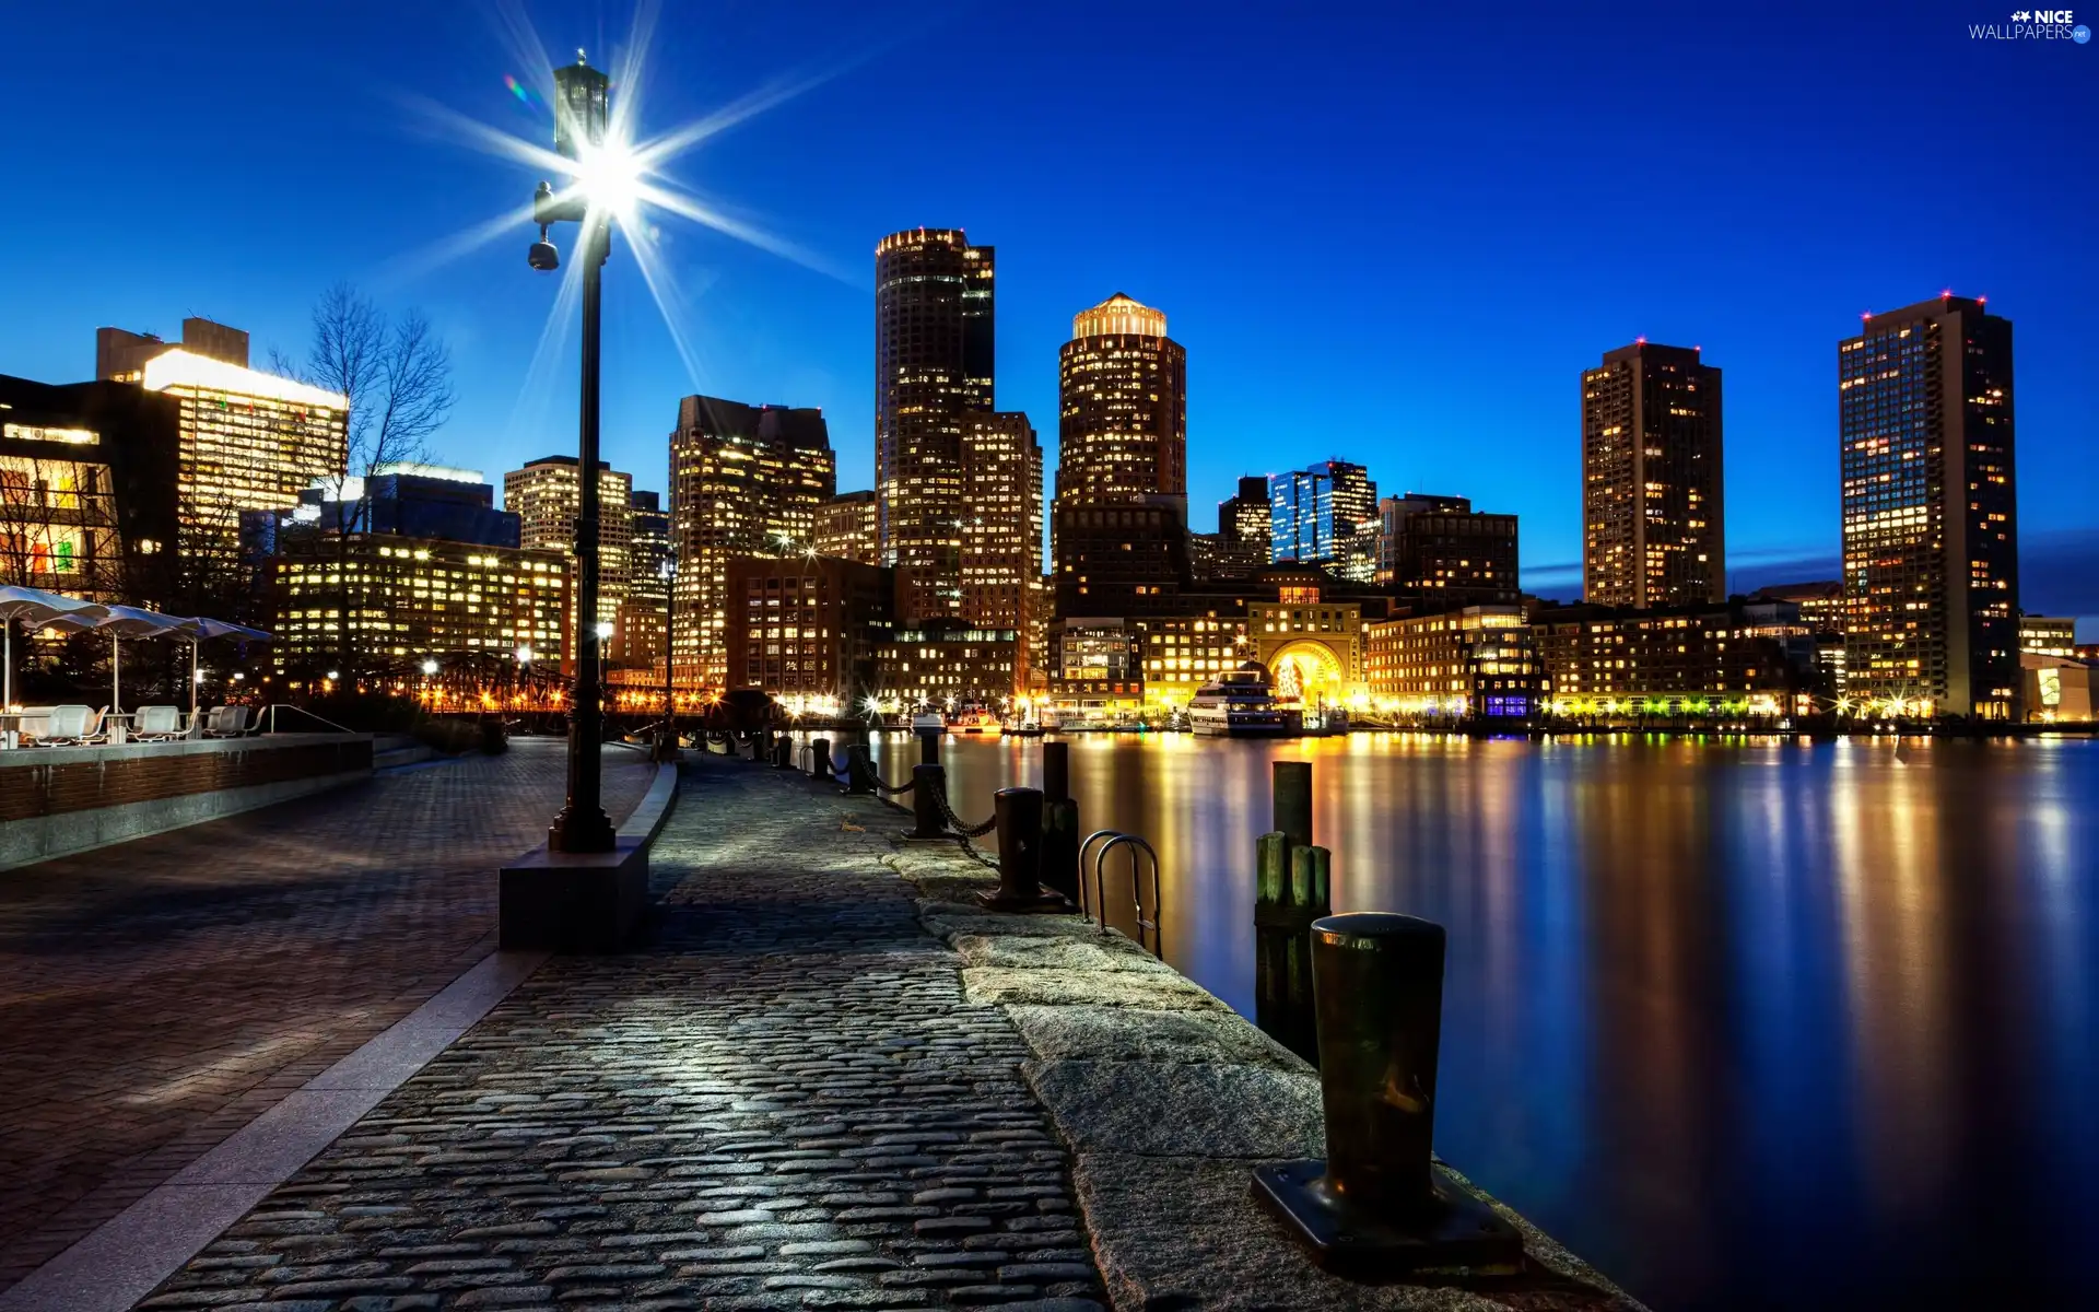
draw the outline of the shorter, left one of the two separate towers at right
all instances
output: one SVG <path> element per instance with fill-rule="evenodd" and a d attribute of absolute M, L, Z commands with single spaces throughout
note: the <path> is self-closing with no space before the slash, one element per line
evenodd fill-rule
<path fill-rule="evenodd" d="M 1727 600 L 1719 369 L 1648 340 L 1581 376 L 1583 598 Z"/>

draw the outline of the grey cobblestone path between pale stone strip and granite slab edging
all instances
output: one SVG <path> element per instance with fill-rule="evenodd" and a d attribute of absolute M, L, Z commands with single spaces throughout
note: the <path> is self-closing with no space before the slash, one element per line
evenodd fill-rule
<path fill-rule="evenodd" d="M 141 1308 L 1098 1308 L 1020 1037 L 875 865 L 900 825 L 695 762 L 651 951 L 544 966 Z"/>

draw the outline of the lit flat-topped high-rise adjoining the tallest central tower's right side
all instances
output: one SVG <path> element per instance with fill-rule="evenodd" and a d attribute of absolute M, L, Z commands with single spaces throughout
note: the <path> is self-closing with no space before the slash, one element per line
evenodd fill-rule
<path fill-rule="evenodd" d="M 961 445 L 961 617 L 1016 630 L 1020 689 L 1043 607 L 1043 449 L 1018 411 L 970 416 Z"/>

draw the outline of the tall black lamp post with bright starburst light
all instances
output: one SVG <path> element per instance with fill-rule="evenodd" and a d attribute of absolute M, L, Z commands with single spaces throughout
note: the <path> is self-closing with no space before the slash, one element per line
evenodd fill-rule
<path fill-rule="evenodd" d="M 577 50 L 575 63 L 554 69 L 554 151 L 569 160 L 584 160 L 605 147 L 605 132 L 611 120 L 611 80 L 584 61 Z M 554 223 L 581 225 L 579 258 L 584 260 L 584 378 L 581 418 L 577 424 L 575 474 L 575 695 L 569 699 L 569 800 L 554 817 L 546 844 L 556 852 L 611 852 L 613 821 L 600 802 L 602 762 L 600 739 L 602 712 L 598 705 L 598 644 L 592 642 L 584 623 L 598 613 L 598 296 L 605 256 L 611 248 L 611 216 L 590 206 L 590 195 L 573 187 L 554 195 L 554 185 L 542 181 L 533 193 L 533 220 L 539 225 L 539 239 L 533 241 L 527 262 L 542 273 L 560 267 L 554 244 L 546 231 Z"/>

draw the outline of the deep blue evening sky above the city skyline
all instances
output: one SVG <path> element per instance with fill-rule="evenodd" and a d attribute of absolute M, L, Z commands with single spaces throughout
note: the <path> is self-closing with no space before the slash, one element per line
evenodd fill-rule
<path fill-rule="evenodd" d="M 2099 617 L 2099 42 L 1971 40 L 2002 0 L 1415 8 L 667 4 L 644 134 L 829 73 L 674 174 L 835 275 L 667 223 L 695 378 L 615 254 L 611 460 L 659 487 L 676 401 L 707 390 L 821 405 L 840 487 L 867 487 L 873 244 L 959 225 L 999 248 L 999 403 L 1052 464 L 1070 315 L 1117 290 L 1167 311 L 1196 527 L 1241 472 L 1343 456 L 1522 514 L 1526 577 L 1570 594 L 1576 378 L 1646 334 L 1725 369 L 1738 579 L 1826 575 L 1837 340 L 1954 288 L 2017 325 L 2028 609 Z M 504 13 L 15 6 L 0 372 L 86 378 L 97 325 L 185 313 L 300 348 L 351 279 L 451 342 L 441 458 L 573 449 L 575 334 L 527 378 L 554 302 L 531 233 L 416 258 L 535 181 L 403 99 L 542 139 Z M 598 57 L 632 8 L 523 13 Z"/>

